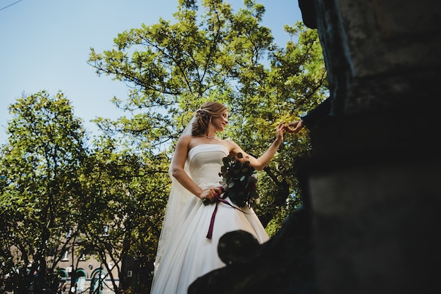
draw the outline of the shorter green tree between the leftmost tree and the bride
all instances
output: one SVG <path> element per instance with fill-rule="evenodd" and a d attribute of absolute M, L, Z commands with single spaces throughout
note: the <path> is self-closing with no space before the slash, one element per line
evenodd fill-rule
<path fill-rule="evenodd" d="M 90 198 L 81 207 L 80 229 L 82 247 L 97 255 L 113 290 L 120 293 L 148 266 L 145 262 L 154 260 L 169 180 L 163 154 L 144 158 L 116 143 L 105 136 L 95 142 L 86 164 Z M 130 259 L 144 261 L 132 277 L 127 276 Z M 151 282 L 151 276 L 142 276 L 142 281 Z"/>

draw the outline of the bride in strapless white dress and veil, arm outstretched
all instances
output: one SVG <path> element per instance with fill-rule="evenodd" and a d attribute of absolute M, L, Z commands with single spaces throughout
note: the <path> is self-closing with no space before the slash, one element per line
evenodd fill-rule
<path fill-rule="evenodd" d="M 264 243 L 268 235 L 249 207 L 234 209 L 216 202 L 221 195 L 219 176 L 223 157 L 244 155 L 250 166 L 262 170 L 283 140 L 285 124 L 276 128 L 273 144 L 259 158 L 252 157 L 231 140 L 221 140 L 216 132 L 228 123 L 228 109 L 218 102 L 206 102 L 196 111 L 179 138 L 170 166 L 172 186 L 156 252 L 151 294 L 187 293 L 199 276 L 225 264 L 218 257 L 218 240 L 225 233 L 243 230 Z M 225 198 L 228 202 L 228 197 Z M 232 203 L 232 202 L 230 202 Z M 234 205 L 234 204 L 232 204 Z M 207 236 L 213 210 L 217 208 L 211 238 Z"/>

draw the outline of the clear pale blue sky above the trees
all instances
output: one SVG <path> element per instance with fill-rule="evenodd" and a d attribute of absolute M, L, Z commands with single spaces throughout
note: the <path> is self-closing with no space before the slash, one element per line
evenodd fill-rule
<path fill-rule="evenodd" d="M 243 6 L 242 0 L 227 2 L 235 11 Z M 263 25 L 285 46 L 283 25 L 302 20 L 298 1 L 256 2 L 266 8 Z M 90 68 L 90 47 L 110 50 L 119 32 L 160 17 L 173 21 L 177 7 L 178 0 L 0 0 L 0 144 L 6 143 L 8 105 L 23 93 L 63 92 L 90 136 L 97 132 L 90 120 L 122 116 L 110 100 L 127 97 L 128 87 Z"/>

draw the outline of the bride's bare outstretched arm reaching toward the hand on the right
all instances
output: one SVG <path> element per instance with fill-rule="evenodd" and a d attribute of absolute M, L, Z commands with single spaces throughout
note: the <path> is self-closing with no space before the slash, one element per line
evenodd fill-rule
<path fill-rule="evenodd" d="M 274 157 L 275 152 L 279 149 L 280 144 L 283 142 L 283 132 L 285 132 L 286 125 L 285 123 L 280 123 L 277 128 L 275 128 L 275 140 L 273 144 L 271 144 L 270 147 L 266 150 L 265 153 L 263 153 L 259 158 L 253 157 L 247 152 L 244 152 L 244 150 L 237 145 L 235 142 L 231 142 L 232 149 L 230 154 L 233 156 L 236 156 L 237 153 L 242 153 L 245 160 L 249 160 L 249 165 L 253 166 L 254 169 L 257 171 L 261 171 L 265 166 L 268 164 L 268 162 L 271 161 L 271 159 Z"/>

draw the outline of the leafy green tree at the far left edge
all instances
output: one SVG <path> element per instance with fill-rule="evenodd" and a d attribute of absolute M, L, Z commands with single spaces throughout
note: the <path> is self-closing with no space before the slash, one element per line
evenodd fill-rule
<path fill-rule="evenodd" d="M 15 293 L 39 293 L 58 286 L 56 263 L 77 235 L 86 138 L 61 92 L 23 95 L 9 111 L 0 159 L 0 264 Z"/>

